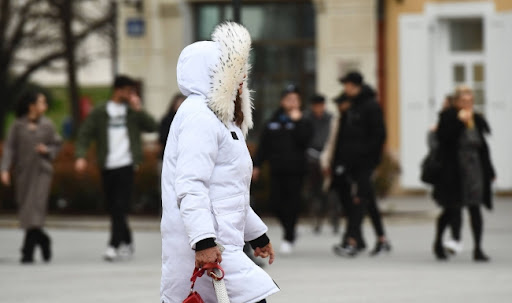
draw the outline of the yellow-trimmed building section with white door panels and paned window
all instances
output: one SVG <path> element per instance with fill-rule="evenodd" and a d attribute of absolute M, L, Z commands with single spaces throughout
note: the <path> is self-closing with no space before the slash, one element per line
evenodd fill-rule
<path fill-rule="evenodd" d="M 488 119 L 495 188 L 512 189 L 512 1 L 386 1 L 389 148 L 402 165 L 401 186 L 419 189 L 426 132 L 459 84 L 475 92 Z"/>

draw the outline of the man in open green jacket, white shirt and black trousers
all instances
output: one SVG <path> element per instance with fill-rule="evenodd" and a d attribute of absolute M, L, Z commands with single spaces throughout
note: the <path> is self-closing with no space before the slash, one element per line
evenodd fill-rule
<path fill-rule="evenodd" d="M 110 100 L 96 107 L 85 119 L 76 139 L 75 168 L 87 168 L 87 149 L 96 142 L 103 191 L 110 214 L 110 241 L 103 257 L 107 261 L 134 253 L 131 230 L 126 218 L 133 191 L 133 179 L 142 161 L 142 132 L 155 132 L 157 124 L 143 109 L 136 93 L 137 83 L 127 76 L 116 76 Z"/>

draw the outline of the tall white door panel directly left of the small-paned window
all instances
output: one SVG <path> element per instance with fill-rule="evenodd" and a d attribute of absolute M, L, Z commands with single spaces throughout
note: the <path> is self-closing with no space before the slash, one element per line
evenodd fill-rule
<path fill-rule="evenodd" d="M 429 29 L 422 15 L 400 17 L 400 163 L 401 186 L 424 188 L 420 165 L 427 154 L 429 125 Z"/>

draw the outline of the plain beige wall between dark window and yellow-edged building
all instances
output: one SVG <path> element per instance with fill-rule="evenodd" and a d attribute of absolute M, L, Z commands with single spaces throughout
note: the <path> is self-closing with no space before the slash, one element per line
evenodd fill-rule
<path fill-rule="evenodd" d="M 376 1 L 318 0 L 317 11 L 317 90 L 331 101 L 341 92 L 338 79 L 349 69 L 358 68 L 365 80 L 376 86 Z"/>

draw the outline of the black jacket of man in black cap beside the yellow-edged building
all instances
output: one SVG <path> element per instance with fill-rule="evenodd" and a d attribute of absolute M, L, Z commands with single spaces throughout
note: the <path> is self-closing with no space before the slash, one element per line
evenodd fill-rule
<path fill-rule="evenodd" d="M 342 114 L 333 165 L 349 170 L 375 169 L 382 157 L 386 126 L 375 92 L 363 85 L 361 93 Z"/>

